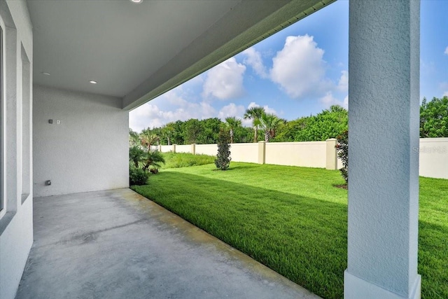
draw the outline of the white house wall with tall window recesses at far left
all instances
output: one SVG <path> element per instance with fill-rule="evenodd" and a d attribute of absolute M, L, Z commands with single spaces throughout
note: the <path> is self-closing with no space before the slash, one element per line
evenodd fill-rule
<path fill-rule="evenodd" d="M 33 243 L 31 109 L 33 39 L 25 1 L 0 1 L 3 29 L 3 200 L 0 298 L 15 297 Z M 27 193 L 27 195 L 25 195 Z"/>

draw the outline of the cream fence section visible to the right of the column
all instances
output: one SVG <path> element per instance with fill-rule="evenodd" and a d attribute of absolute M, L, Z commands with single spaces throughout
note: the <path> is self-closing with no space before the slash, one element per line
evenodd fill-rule
<path fill-rule="evenodd" d="M 421 138 L 419 174 L 432 178 L 448 179 L 448 138 Z"/>

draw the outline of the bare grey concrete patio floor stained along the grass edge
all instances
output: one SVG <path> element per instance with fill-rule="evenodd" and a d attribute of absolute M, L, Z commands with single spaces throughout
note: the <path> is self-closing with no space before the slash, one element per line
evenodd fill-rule
<path fill-rule="evenodd" d="M 16 298 L 319 298 L 130 189 L 34 199 Z"/>

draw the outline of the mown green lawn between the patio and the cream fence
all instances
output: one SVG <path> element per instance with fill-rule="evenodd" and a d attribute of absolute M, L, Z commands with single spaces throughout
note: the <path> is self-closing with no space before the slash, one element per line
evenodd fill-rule
<path fill-rule="evenodd" d="M 138 193 L 323 298 L 343 298 L 347 191 L 337 171 L 232 162 L 163 169 Z M 422 298 L 448 298 L 448 180 L 421 178 Z"/>

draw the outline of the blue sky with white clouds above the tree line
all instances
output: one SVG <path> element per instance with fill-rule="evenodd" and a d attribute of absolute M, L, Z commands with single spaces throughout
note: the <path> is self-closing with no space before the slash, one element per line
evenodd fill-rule
<path fill-rule="evenodd" d="M 447 13 L 448 1 L 421 1 L 421 99 L 448 96 Z M 340 0 L 134 109 L 130 127 L 242 118 L 251 106 L 287 120 L 347 107 L 348 49 L 349 2 Z"/>

